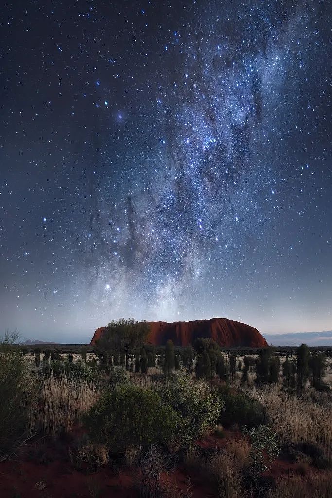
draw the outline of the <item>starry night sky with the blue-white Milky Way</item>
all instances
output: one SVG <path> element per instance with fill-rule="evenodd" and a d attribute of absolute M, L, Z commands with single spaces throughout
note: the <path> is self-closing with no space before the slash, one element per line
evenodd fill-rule
<path fill-rule="evenodd" d="M 0 6 L 0 323 L 332 328 L 331 4 Z"/>

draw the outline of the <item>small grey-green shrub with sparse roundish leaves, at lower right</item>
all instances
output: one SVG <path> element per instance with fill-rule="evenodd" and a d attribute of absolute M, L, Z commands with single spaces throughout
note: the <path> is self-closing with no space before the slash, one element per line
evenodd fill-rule
<path fill-rule="evenodd" d="M 279 455 L 280 446 L 276 434 L 267 425 L 260 424 L 258 427 L 248 431 L 243 429 L 243 434 L 248 436 L 251 442 L 251 464 L 250 472 L 259 475 L 270 470 L 270 464 Z"/>

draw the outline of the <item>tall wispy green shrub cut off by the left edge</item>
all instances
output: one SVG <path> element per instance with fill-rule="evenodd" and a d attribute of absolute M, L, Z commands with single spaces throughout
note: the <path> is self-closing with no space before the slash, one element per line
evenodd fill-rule
<path fill-rule="evenodd" d="M 28 437 L 34 418 L 36 382 L 20 351 L 11 348 L 16 340 L 7 334 L 0 341 L 0 460 Z"/>

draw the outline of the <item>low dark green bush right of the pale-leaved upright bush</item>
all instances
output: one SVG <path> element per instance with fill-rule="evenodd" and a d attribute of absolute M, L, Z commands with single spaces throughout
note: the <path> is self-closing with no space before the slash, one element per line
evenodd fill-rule
<path fill-rule="evenodd" d="M 219 388 L 218 393 L 224 405 L 219 418 L 222 425 L 257 427 L 265 422 L 265 409 L 256 399 L 250 398 L 243 392 L 232 394 L 227 387 Z"/>

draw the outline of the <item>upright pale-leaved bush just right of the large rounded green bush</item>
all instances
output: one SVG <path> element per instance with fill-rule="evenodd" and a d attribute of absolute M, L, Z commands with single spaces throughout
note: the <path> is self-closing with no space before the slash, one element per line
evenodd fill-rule
<path fill-rule="evenodd" d="M 203 382 L 193 382 L 185 373 L 174 375 L 160 389 L 160 396 L 183 419 L 179 433 L 184 445 L 191 444 L 210 427 L 215 427 L 222 409 L 216 393 L 211 393 Z"/>

